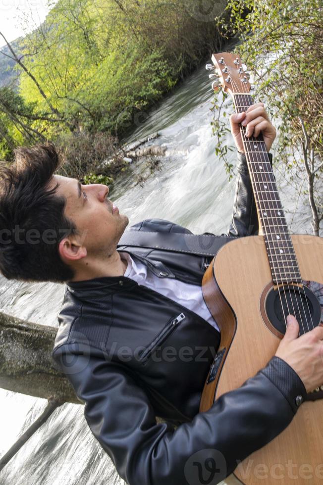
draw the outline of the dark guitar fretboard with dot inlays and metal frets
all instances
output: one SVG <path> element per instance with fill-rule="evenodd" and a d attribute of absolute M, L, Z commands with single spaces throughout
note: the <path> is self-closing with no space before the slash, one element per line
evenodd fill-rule
<path fill-rule="evenodd" d="M 249 94 L 234 94 L 237 113 L 246 111 L 253 104 Z M 269 265 L 274 283 L 301 282 L 293 243 L 269 156 L 262 135 L 247 138 L 245 127 L 240 125 L 241 138 L 257 204 L 259 223 L 266 242 Z"/>

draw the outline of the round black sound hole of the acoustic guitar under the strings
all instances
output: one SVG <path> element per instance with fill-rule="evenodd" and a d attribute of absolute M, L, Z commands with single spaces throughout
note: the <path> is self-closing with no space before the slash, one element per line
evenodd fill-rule
<path fill-rule="evenodd" d="M 285 284 L 269 291 L 265 310 L 273 327 L 284 334 L 287 315 L 295 315 L 300 326 L 300 335 L 309 332 L 323 322 L 323 285 L 315 281 L 304 281 L 303 287 Z"/>

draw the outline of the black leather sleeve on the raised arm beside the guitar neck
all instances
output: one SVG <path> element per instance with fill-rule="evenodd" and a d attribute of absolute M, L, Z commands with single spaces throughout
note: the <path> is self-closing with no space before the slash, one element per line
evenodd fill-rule
<path fill-rule="evenodd" d="M 268 153 L 268 155 L 272 163 L 272 154 Z M 259 231 L 258 215 L 247 160 L 240 152 L 238 152 L 237 171 L 232 221 L 228 236 L 252 236 Z"/>

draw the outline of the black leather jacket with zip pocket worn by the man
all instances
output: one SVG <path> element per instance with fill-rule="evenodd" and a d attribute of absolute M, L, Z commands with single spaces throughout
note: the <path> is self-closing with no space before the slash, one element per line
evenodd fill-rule
<path fill-rule="evenodd" d="M 241 155 L 238 171 L 231 237 L 258 230 Z M 178 234 L 179 240 L 191 234 L 162 220 L 143 221 L 130 230 L 145 232 L 148 241 L 151 232 Z M 222 237 L 222 243 L 227 240 Z M 125 246 L 122 239 L 118 249 L 160 278 L 191 284 L 201 284 L 212 259 L 189 250 Z M 199 413 L 218 332 L 194 312 L 129 278 L 68 284 L 58 318 L 54 361 L 85 402 L 92 433 L 130 485 L 200 485 L 198 474 L 210 457 L 217 470 L 212 483 L 217 483 L 282 432 L 296 413 L 296 397 L 306 397 L 297 374 L 274 357 L 241 388 Z M 156 416 L 166 422 L 157 423 Z"/>

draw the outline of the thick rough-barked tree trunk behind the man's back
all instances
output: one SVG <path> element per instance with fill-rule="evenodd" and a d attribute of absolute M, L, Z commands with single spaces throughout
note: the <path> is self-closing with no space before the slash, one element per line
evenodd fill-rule
<path fill-rule="evenodd" d="M 0 387 L 59 402 L 79 403 L 67 378 L 54 368 L 57 329 L 0 312 Z"/>

